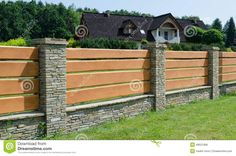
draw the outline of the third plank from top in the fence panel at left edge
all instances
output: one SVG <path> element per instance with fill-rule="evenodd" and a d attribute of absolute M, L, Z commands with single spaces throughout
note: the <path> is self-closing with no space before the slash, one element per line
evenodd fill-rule
<path fill-rule="evenodd" d="M 30 84 L 30 85 L 28 85 Z M 33 85 L 32 85 L 33 84 Z M 0 95 L 38 93 L 39 82 L 37 79 L 32 80 L 0 80 Z"/>

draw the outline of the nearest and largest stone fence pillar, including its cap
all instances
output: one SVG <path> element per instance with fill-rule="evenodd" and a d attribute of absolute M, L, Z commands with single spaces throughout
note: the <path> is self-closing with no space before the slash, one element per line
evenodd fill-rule
<path fill-rule="evenodd" d="M 46 115 L 46 134 L 66 126 L 66 45 L 64 39 L 34 39 L 39 48 L 39 103 Z"/>

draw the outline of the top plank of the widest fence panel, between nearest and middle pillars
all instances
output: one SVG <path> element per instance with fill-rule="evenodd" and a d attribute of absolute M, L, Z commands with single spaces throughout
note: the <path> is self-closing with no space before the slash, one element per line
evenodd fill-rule
<path fill-rule="evenodd" d="M 148 50 L 67 48 L 67 59 L 147 58 Z"/>

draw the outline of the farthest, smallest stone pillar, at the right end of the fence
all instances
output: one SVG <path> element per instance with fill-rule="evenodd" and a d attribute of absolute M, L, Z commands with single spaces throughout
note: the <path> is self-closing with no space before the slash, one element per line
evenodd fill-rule
<path fill-rule="evenodd" d="M 208 50 L 208 84 L 212 87 L 211 99 L 220 95 L 219 89 L 219 48 L 213 47 Z"/>

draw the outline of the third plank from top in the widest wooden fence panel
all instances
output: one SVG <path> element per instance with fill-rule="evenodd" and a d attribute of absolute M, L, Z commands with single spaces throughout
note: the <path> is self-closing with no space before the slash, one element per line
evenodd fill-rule
<path fill-rule="evenodd" d="M 150 80 L 150 72 L 130 71 L 130 72 L 103 72 L 86 74 L 68 74 L 67 88 L 79 88 L 96 85 L 107 85 L 114 83 L 131 82 L 132 80 Z"/>

